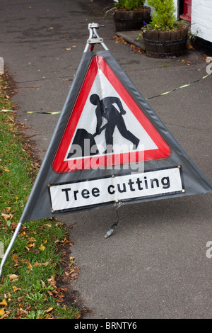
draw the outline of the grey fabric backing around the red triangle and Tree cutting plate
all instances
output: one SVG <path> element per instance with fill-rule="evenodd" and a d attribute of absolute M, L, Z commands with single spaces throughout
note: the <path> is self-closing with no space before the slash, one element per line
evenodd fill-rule
<path fill-rule="evenodd" d="M 144 171 L 160 168 L 170 168 L 172 166 L 178 165 L 182 166 L 182 179 L 185 189 L 184 193 L 172 193 L 169 196 L 158 196 L 153 198 L 146 197 L 130 199 L 123 201 L 123 204 L 152 201 L 162 198 L 171 198 L 175 196 L 194 195 L 212 191 L 211 183 L 208 181 L 208 179 L 206 179 L 204 174 L 201 173 L 201 171 L 194 164 L 194 162 L 192 162 L 192 160 L 184 152 L 182 147 L 179 146 L 175 138 L 172 137 L 170 131 L 167 130 L 165 125 L 162 123 L 160 118 L 158 118 L 158 115 L 156 115 L 156 113 L 153 111 L 146 99 L 143 98 L 141 93 L 134 86 L 133 82 L 129 79 L 129 77 L 127 77 L 124 70 L 119 66 L 117 61 L 114 60 L 114 57 L 112 57 L 110 51 L 104 50 L 100 52 L 86 52 L 83 54 L 81 62 L 78 66 L 76 77 L 73 80 L 73 84 L 71 85 L 71 89 L 64 103 L 64 107 L 61 111 L 61 115 L 54 130 L 54 134 L 52 135 L 52 140 L 47 149 L 45 159 L 42 162 L 42 166 L 40 167 L 37 179 L 35 180 L 35 184 L 33 185 L 33 189 L 28 198 L 28 202 L 23 210 L 23 215 L 21 217 L 21 220 L 23 222 L 28 220 L 38 220 L 40 218 L 49 218 L 55 215 L 51 211 L 52 207 L 48 184 L 69 183 L 86 179 L 104 178 L 105 176 L 109 176 L 112 174 L 126 173 L 124 167 L 122 167 L 121 169 L 90 169 L 83 171 L 73 171 L 64 174 L 57 174 L 52 169 L 52 161 L 55 154 L 57 153 L 57 147 L 64 133 L 64 129 L 66 128 L 66 123 L 69 120 L 71 110 L 73 109 L 74 103 L 76 102 L 78 91 L 81 89 L 83 79 L 86 76 L 86 72 L 88 71 L 90 62 L 94 55 L 102 55 L 102 57 L 105 58 L 105 61 L 112 68 L 117 78 L 122 82 L 122 85 L 124 86 L 126 91 L 128 91 L 131 97 L 134 98 L 134 101 L 136 101 L 137 105 L 143 110 L 148 119 L 151 120 L 151 123 L 153 123 L 158 132 L 160 132 L 160 135 L 162 135 L 165 142 L 167 142 L 167 144 L 172 149 L 172 153 L 167 159 L 145 162 Z M 112 206 L 117 205 L 117 203 L 102 203 L 98 205 L 98 207 L 90 206 L 89 208 L 81 209 L 95 209 L 100 208 L 103 205 Z M 56 215 L 59 214 L 57 213 Z"/>

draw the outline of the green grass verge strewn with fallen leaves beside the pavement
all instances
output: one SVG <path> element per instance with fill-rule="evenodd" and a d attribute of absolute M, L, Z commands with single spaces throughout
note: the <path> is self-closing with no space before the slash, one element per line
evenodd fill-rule
<path fill-rule="evenodd" d="M 0 74 L 0 108 L 12 109 L 8 81 Z M 35 180 L 38 164 L 13 113 L 0 113 L 0 242 L 6 250 Z M 0 318 L 78 318 L 57 286 L 66 228 L 54 219 L 23 223 L 0 278 Z M 60 249 L 59 249 L 60 247 Z M 1 259 L 0 259 L 1 260 Z M 67 264 L 76 271 L 73 259 Z"/>

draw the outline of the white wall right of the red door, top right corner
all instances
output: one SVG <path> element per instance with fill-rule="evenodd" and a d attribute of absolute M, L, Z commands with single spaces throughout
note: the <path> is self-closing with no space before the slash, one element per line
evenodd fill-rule
<path fill-rule="evenodd" d="M 192 0 L 191 31 L 200 38 L 212 42 L 212 1 Z"/>

